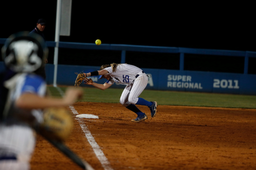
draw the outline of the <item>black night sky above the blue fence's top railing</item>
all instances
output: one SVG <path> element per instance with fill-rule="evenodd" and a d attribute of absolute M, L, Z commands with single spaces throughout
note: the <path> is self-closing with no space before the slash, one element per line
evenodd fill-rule
<path fill-rule="evenodd" d="M 54 41 L 57 0 L 5 1 L 0 38 L 31 31 L 45 18 Z M 111 2 L 72 0 L 70 37 L 60 41 L 256 51 L 255 12 L 240 3 Z"/>

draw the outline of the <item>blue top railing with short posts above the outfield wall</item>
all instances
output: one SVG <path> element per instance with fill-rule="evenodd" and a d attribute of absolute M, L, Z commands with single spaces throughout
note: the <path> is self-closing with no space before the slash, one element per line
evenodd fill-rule
<path fill-rule="evenodd" d="M 5 42 L 6 38 L 0 38 L 0 44 Z M 47 46 L 55 47 L 56 42 L 46 41 Z M 248 73 L 248 58 L 256 57 L 254 51 L 234 51 L 234 50 L 218 50 L 218 49 L 197 49 L 183 47 L 158 47 L 158 46 L 141 46 L 141 45 L 124 45 L 124 44 L 101 44 L 79 43 L 79 42 L 58 42 L 60 48 L 73 49 L 99 49 L 99 50 L 118 50 L 121 51 L 121 63 L 125 63 L 126 51 L 140 52 L 159 52 L 159 53 L 179 53 L 179 70 L 184 69 L 184 54 L 204 54 L 204 55 L 222 55 L 222 56 L 238 56 L 244 57 L 243 74 Z"/>

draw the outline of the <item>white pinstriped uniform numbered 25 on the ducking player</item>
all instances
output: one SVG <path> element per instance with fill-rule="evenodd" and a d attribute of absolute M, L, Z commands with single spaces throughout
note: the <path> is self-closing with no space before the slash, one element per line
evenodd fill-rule
<path fill-rule="evenodd" d="M 130 64 L 119 64 L 115 72 L 112 71 L 111 67 L 104 69 L 108 71 L 108 75 L 111 77 L 106 83 L 126 85 L 121 94 L 120 103 L 124 107 L 130 104 L 136 104 L 138 96 L 145 89 L 148 82 L 144 71 Z"/>

